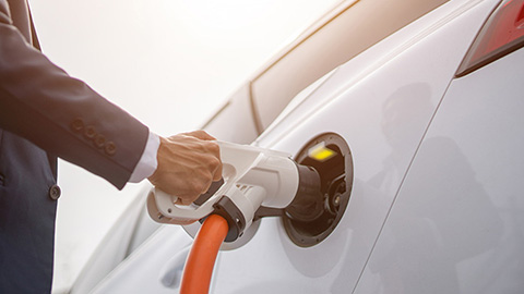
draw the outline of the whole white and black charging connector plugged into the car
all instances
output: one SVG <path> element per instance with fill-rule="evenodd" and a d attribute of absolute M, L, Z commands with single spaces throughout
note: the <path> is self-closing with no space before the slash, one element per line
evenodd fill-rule
<path fill-rule="evenodd" d="M 248 242 L 255 230 L 251 224 L 260 217 L 286 213 L 297 221 L 311 221 L 322 215 L 320 176 L 313 168 L 297 164 L 285 152 L 225 142 L 218 145 L 224 182 L 214 183 L 210 192 L 186 207 L 176 205 L 176 196 L 153 188 L 147 196 L 153 220 L 182 224 L 194 237 L 199 221 L 219 215 L 229 225 L 227 249 Z M 260 207 L 273 213 L 257 213 Z"/>

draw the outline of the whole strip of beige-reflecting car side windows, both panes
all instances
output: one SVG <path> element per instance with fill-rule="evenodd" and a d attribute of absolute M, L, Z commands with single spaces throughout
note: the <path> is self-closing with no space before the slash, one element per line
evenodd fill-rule
<path fill-rule="evenodd" d="M 309 84 L 446 1 L 342 1 L 249 78 L 205 130 L 221 136 L 228 127 L 242 137 L 224 139 L 252 142 Z"/>

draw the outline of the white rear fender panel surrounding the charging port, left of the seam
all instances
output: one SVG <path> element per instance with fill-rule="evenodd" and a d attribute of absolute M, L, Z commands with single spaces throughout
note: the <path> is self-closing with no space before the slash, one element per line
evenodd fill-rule
<path fill-rule="evenodd" d="M 462 15 L 462 3 L 456 3 L 420 20 L 412 27 L 424 32 L 416 44 L 409 42 L 413 36 L 402 34 L 396 44 L 390 39 L 388 48 L 395 45 L 403 51 L 332 96 L 330 89 L 341 87 L 336 82 L 347 83 L 352 75 L 345 74 L 359 70 L 353 62 L 345 64 L 258 140 L 260 146 L 296 154 L 317 134 L 342 135 L 354 155 L 352 199 L 334 233 L 311 248 L 294 245 L 278 220 L 262 220 L 246 248 L 222 254 L 214 293 L 263 293 L 274 284 L 289 293 L 347 293 L 355 287 L 426 127 L 476 34 L 468 27 L 478 26 L 490 8 L 480 5 Z M 448 22 L 428 32 L 436 17 Z M 372 58 L 366 53 L 360 58 L 378 58 L 380 63 L 384 57 L 380 53 L 391 57 L 380 49 Z M 254 254 L 259 252 L 266 253 Z"/>

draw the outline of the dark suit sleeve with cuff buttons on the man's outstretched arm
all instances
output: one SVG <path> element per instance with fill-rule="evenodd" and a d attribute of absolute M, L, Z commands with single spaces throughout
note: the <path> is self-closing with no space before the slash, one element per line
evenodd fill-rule
<path fill-rule="evenodd" d="M 28 45 L 0 4 L 0 128 L 123 187 L 145 125 Z"/>

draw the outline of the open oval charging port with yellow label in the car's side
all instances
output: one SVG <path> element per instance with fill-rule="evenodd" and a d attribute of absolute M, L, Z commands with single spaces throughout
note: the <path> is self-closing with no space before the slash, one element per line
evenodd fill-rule
<path fill-rule="evenodd" d="M 306 191 L 297 193 L 282 219 L 289 238 L 300 247 L 310 247 L 335 230 L 346 210 L 353 187 L 353 159 L 346 142 L 327 133 L 306 144 L 295 161 L 300 186 Z M 314 184 L 319 182 L 320 187 Z"/>

